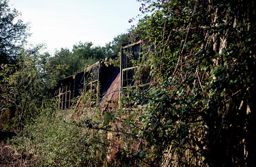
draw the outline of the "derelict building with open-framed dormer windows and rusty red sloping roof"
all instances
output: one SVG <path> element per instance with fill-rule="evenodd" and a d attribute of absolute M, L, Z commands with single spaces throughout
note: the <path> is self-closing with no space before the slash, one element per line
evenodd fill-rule
<path fill-rule="evenodd" d="M 85 107 L 100 104 L 105 108 L 117 108 L 119 99 L 124 96 L 128 88 L 143 90 L 149 88 L 152 77 L 149 71 L 141 71 L 141 53 L 145 52 L 141 41 L 122 45 L 120 57 L 113 55 L 111 60 L 120 59 L 120 68 L 106 65 L 106 60 L 100 60 L 85 68 L 81 73 L 61 79 L 55 89 L 54 97 L 59 100 L 59 109 L 70 109 L 75 97 L 84 92 L 90 94 L 90 100 Z M 108 61 L 107 59 L 107 61 Z M 136 71 L 140 72 L 140 79 L 134 79 Z M 81 107 L 77 103 L 76 107 Z"/>

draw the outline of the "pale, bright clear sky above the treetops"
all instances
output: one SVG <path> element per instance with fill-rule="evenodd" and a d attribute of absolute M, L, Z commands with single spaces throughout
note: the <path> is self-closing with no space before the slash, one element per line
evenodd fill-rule
<path fill-rule="evenodd" d="M 28 44 L 45 43 L 47 51 L 69 48 L 81 42 L 104 46 L 119 34 L 127 33 L 131 18 L 140 14 L 136 0 L 9 0 L 29 22 Z"/>

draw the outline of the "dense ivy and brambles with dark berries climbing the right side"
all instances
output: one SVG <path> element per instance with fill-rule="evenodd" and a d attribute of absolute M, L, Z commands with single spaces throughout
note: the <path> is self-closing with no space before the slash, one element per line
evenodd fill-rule
<path fill-rule="evenodd" d="M 146 104 L 143 110 L 113 119 L 136 135 L 123 135 L 120 160 L 255 166 L 255 2 L 140 2 L 146 15 L 131 37 L 154 45 L 140 66 L 151 69 L 155 83 L 129 97 L 128 107 Z M 137 149 L 134 140 L 141 141 Z"/>

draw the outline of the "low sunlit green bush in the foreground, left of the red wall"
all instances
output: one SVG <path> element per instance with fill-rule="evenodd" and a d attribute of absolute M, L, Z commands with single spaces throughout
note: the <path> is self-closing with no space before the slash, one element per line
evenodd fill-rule
<path fill-rule="evenodd" d="M 42 109 L 34 123 L 27 125 L 9 144 L 18 153 L 29 156 L 32 166 L 102 166 L 104 155 L 99 151 L 102 135 L 66 120 L 70 113 L 70 110 L 57 113 L 55 105 Z"/>

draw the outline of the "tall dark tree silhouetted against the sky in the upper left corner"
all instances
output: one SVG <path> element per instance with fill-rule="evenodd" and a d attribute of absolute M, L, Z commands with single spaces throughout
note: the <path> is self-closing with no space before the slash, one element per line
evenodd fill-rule
<path fill-rule="evenodd" d="M 28 23 L 23 23 L 8 0 L 0 0 L 0 64 L 14 63 L 21 46 L 29 37 Z"/>

